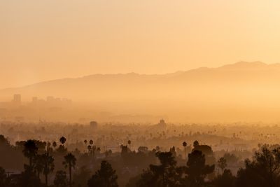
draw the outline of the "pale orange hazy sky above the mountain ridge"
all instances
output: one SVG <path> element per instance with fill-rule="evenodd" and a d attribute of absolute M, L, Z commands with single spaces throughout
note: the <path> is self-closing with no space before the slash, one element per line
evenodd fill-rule
<path fill-rule="evenodd" d="M 0 0 L 0 88 L 280 62 L 279 0 Z"/>

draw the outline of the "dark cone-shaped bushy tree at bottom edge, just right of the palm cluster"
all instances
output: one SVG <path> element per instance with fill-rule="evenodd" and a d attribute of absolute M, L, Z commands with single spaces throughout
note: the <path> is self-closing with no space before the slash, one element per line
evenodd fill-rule
<path fill-rule="evenodd" d="M 111 164 L 104 160 L 100 169 L 87 182 L 87 185 L 88 187 L 118 187 L 117 179 L 116 170 L 113 170 Z"/>

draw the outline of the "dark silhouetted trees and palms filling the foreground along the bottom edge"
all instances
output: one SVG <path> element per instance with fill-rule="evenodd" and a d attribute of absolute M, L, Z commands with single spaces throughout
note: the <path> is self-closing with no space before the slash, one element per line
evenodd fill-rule
<path fill-rule="evenodd" d="M 193 142 L 190 153 L 184 158 L 176 148 L 160 151 L 159 147 L 148 150 L 140 146 L 130 150 L 131 141 L 120 145 L 120 154 L 112 151 L 101 153 L 92 140 L 85 140 L 87 151 L 68 151 L 66 138 L 44 142 L 18 141 L 10 145 L 0 135 L 0 159 L 5 168 L 24 162 L 22 171 L 10 171 L 0 167 L 0 187 L 176 187 L 176 186 L 280 186 L 280 147 L 263 145 L 253 158 L 244 160 L 244 167 L 232 174 L 228 165 L 235 159 L 225 154 L 215 160 L 210 146 Z M 3 163 L 3 162 L 1 162 Z M 133 169 L 139 174 L 131 176 Z M 126 182 L 124 182 L 126 181 Z"/>

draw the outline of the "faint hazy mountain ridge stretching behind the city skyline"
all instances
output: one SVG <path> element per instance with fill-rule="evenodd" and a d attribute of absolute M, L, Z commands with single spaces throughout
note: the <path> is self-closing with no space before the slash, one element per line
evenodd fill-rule
<path fill-rule="evenodd" d="M 280 64 L 237 62 L 223 67 L 201 67 L 172 74 L 93 74 L 80 78 L 45 81 L 22 88 L 0 90 L 0 99 L 14 93 L 24 97 L 67 97 L 76 101 L 127 101 L 195 97 L 201 91 L 214 95 L 217 89 L 278 88 Z M 276 86 L 277 85 L 277 86 Z M 208 89 L 208 90 L 204 90 Z M 277 90 L 277 89 L 276 89 Z M 224 90 L 223 90 L 224 91 Z M 197 93 L 196 93 L 197 92 Z"/>

